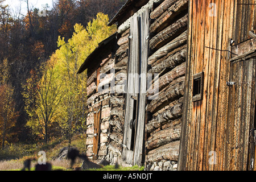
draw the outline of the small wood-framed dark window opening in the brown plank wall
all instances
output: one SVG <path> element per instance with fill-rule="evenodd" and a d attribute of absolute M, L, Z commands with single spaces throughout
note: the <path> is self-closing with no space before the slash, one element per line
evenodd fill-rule
<path fill-rule="evenodd" d="M 193 98 L 192 101 L 203 100 L 203 83 L 204 83 L 204 73 L 197 73 L 193 75 Z"/>

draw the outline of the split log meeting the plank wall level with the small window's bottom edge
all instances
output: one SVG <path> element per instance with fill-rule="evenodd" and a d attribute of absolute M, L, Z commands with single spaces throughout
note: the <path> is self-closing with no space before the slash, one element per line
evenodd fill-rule
<path fill-rule="evenodd" d="M 170 109 L 167 109 L 164 113 L 159 114 L 156 118 L 149 121 L 146 125 L 147 133 L 152 133 L 154 130 L 166 125 L 169 121 L 179 119 L 183 112 L 183 103 L 176 104 Z"/>

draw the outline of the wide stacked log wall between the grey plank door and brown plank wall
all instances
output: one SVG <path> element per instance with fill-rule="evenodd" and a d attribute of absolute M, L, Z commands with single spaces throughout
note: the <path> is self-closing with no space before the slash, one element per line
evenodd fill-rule
<path fill-rule="evenodd" d="M 145 167 L 176 170 L 179 158 L 181 117 L 187 56 L 187 0 L 165 0 L 153 6 L 150 18 Z"/>

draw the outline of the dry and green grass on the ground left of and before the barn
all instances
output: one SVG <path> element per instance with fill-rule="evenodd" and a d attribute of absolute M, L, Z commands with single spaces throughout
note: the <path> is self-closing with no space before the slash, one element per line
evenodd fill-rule
<path fill-rule="evenodd" d="M 86 135 L 76 135 L 72 139 L 71 146 L 76 147 L 81 153 L 85 152 Z M 23 168 L 23 162 L 26 159 L 35 158 L 38 159 L 38 152 L 46 152 L 47 162 L 52 164 L 53 170 L 69 171 L 69 160 L 52 160 L 53 156 L 59 154 L 59 151 L 63 147 L 68 146 L 67 140 L 55 139 L 48 144 L 33 143 L 22 144 L 16 143 L 7 146 L 4 150 L 0 150 L 0 171 L 18 171 Z M 81 167 L 82 160 L 77 160 L 74 167 Z M 32 162 L 31 171 L 35 170 L 36 162 Z M 118 167 L 105 166 L 100 169 L 88 169 L 86 171 L 143 171 L 143 167 Z"/>

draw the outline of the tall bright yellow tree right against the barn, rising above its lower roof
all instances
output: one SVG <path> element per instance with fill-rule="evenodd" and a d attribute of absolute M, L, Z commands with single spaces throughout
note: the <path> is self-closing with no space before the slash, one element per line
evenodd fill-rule
<path fill-rule="evenodd" d="M 65 80 L 61 87 L 64 95 L 59 108 L 63 118 L 60 124 L 69 145 L 73 134 L 84 126 L 86 118 L 86 72 L 80 75 L 77 75 L 77 72 L 98 43 L 116 31 L 116 26 L 107 26 L 108 21 L 108 15 L 98 13 L 97 19 L 89 22 L 86 28 L 76 24 L 71 39 L 65 42 L 64 38 L 59 37 L 59 49 L 52 56 L 56 63 L 55 69 L 60 73 L 56 78 L 59 81 Z"/>

